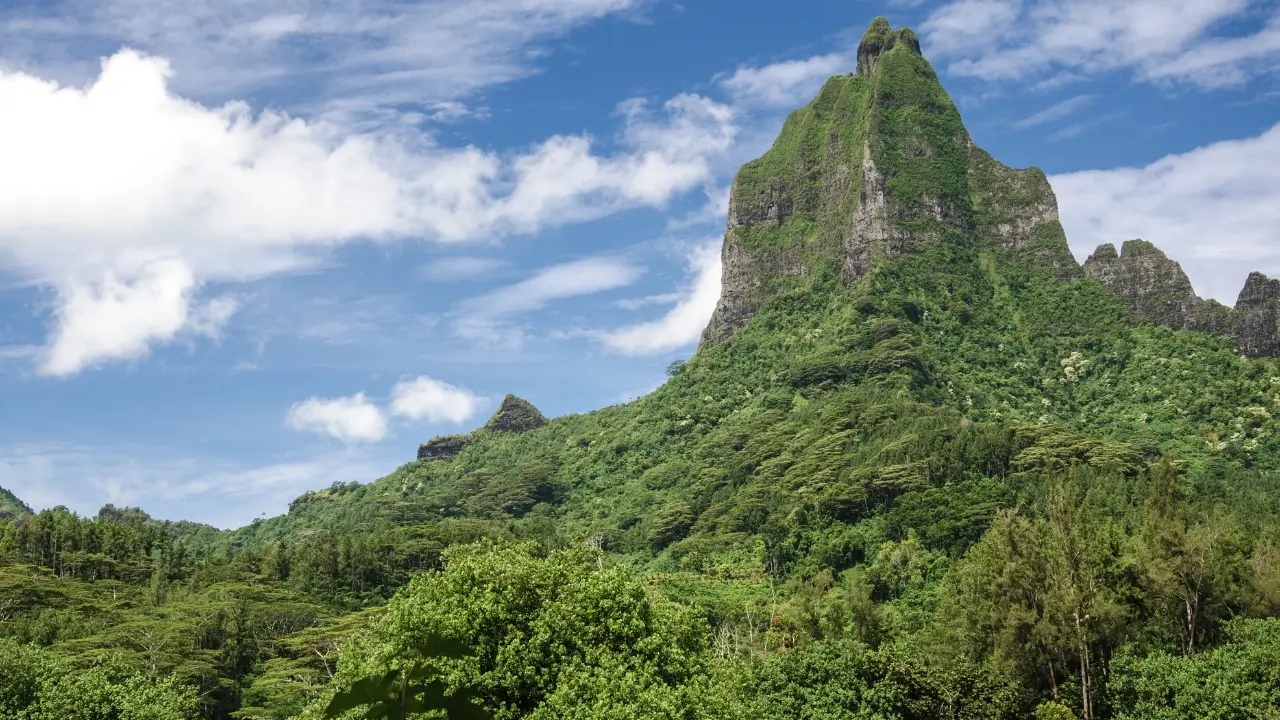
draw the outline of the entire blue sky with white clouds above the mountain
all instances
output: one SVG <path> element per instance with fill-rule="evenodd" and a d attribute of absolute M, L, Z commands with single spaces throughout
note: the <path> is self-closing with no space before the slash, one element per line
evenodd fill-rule
<path fill-rule="evenodd" d="M 1079 260 L 1280 277 L 1275 0 L 10 0 L 0 487 L 233 528 L 508 392 L 652 391 L 733 172 L 876 15 Z"/>

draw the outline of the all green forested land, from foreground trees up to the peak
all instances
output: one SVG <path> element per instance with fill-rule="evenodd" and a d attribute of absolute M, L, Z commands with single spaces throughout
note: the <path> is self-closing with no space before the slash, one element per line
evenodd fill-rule
<path fill-rule="evenodd" d="M 877 19 L 646 397 L 234 532 L 0 492 L 0 717 L 320 717 L 425 638 L 499 720 L 1280 717 L 1274 281 L 1096 258 Z"/>

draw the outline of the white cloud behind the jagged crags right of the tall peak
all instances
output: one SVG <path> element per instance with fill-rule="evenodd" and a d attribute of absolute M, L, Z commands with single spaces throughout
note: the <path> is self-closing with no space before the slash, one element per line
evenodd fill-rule
<path fill-rule="evenodd" d="M 1201 295 L 1233 305 L 1249 272 L 1280 277 L 1280 126 L 1149 165 L 1050 178 L 1076 258 L 1144 238 Z"/>

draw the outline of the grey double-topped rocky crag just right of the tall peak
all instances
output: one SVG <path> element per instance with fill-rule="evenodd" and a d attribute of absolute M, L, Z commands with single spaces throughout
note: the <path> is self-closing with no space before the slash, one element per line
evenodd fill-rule
<path fill-rule="evenodd" d="M 1084 261 L 1084 273 L 1120 296 L 1137 315 L 1158 325 L 1212 333 L 1229 332 L 1229 311 L 1201 300 L 1181 265 L 1155 245 L 1130 240 L 1120 252 L 1100 246 Z"/>

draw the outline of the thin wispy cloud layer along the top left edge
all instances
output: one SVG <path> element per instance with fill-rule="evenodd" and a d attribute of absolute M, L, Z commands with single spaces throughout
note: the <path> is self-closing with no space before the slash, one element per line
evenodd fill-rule
<path fill-rule="evenodd" d="M 138 47 L 172 58 L 184 94 L 221 101 L 276 91 L 292 109 L 381 123 L 527 77 L 548 41 L 639 3 L 10 3 L 0 8 L 0 47 L 22 67 L 73 83 L 93 74 L 97 55 Z"/>

